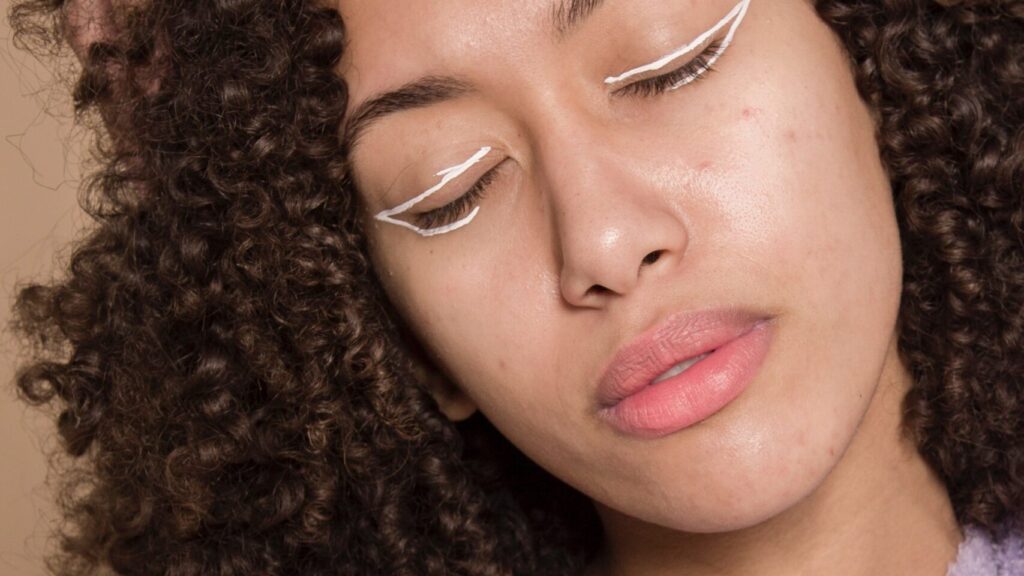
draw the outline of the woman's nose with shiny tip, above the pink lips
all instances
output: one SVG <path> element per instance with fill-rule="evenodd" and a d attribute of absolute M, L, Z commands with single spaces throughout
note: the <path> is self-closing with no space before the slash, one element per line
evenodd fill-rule
<path fill-rule="evenodd" d="M 577 122 L 564 138 L 549 125 L 541 147 L 552 205 L 566 302 L 601 307 L 645 279 L 675 270 L 687 245 L 683 219 L 647 162 L 642 147 Z M 610 130 L 609 130 L 610 132 Z"/>

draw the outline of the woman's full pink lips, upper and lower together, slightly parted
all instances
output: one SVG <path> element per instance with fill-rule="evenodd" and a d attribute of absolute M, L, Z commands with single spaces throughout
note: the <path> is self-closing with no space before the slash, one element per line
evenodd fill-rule
<path fill-rule="evenodd" d="M 630 436 L 657 438 L 693 425 L 732 402 L 757 374 L 772 324 L 743 311 L 683 313 L 644 332 L 614 356 L 597 390 L 598 410 Z M 711 353 L 682 374 L 652 380 Z"/>

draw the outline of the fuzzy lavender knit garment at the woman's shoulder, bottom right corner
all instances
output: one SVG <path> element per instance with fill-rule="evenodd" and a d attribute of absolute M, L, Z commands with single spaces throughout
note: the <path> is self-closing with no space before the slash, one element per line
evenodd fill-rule
<path fill-rule="evenodd" d="M 991 536 L 975 526 L 965 527 L 946 576 L 1024 576 L 1024 523 L 1009 523 Z"/>

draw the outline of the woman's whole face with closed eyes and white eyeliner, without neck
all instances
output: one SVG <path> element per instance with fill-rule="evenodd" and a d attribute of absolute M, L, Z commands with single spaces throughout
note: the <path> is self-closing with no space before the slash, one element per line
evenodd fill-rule
<path fill-rule="evenodd" d="M 362 115 L 351 155 L 399 313 L 539 464 L 604 510 L 696 532 L 806 497 L 896 362 L 871 117 L 809 2 L 737 1 L 340 3 L 350 112 L 412 88 Z M 713 72 L 675 72 L 723 45 Z M 646 384 L 700 352 L 684 344 L 743 333 L 609 417 L 609 366 Z"/>

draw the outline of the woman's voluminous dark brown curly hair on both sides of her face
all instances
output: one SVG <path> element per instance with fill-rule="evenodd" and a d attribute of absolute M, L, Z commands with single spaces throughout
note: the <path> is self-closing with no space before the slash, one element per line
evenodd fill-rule
<path fill-rule="evenodd" d="M 22 45 L 68 41 L 75 4 L 15 2 Z M 905 431 L 957 520 L 994 530 L 1024 513 L 1024 1 L 815 4 L 893 184 Z M 413 377 L 345 178 L 338 13 L 148 0 L 109 17 L 75 88 L 106 126 L 95 227 L 66 279 L 15 304 L 38 348 L 17 386 L 58 407 L 78 470 L 51 569 L 580 571 L 601 539 L 590 501 Z"/>

